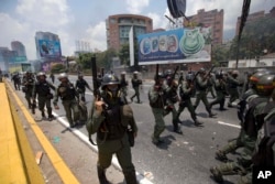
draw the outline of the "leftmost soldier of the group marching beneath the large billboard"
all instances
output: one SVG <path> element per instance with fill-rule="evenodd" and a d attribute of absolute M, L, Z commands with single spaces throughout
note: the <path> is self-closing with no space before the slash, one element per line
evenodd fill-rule
<path fill-rule="evenodd" d="M 155 118 L 154 132 L 152 134 L 152 142 L 154 144 L 164 142 L 160 138 L 162 132 L 165 130 L 163 113 L 166 102 L 165 90 L 167 87 L 164 85 L 164 80 L 165 75 L 163 73 L 158 73 L 157 76 L 155 76 L 155 84 L 148 89 L 148 101 Z"/>

